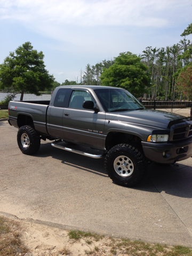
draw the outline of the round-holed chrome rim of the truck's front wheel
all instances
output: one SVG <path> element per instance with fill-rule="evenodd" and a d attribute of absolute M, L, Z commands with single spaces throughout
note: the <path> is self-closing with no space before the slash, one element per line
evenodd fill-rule
<path fill-rule="evenodd" d="M 114 161 L 114 169 L 121 177 L 129 177 L 134 170 L 131 159 L 127 156 L 118 156 Z"/>

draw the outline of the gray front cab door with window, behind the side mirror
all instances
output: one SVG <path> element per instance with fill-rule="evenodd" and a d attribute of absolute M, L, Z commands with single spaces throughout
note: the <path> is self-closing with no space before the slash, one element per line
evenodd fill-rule
<path fill-rule="evenodd" d="M 95 106 L 96 102 L 90 92 L 72 91 L 69 107 L 63 112 L 63 132 L 66 140 L 102 148 L 105 113 L 84 109 L 82 105 L 86 100 L 92 100 Z"/>

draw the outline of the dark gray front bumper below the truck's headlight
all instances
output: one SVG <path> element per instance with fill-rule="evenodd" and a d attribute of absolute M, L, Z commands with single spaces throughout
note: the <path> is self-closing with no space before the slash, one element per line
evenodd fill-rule
<path fill-rule="evenodd" d="M 173 164 L 192 157 L 192 138 L 174 143 L 152 143 L 144 141 L 141 143 L 145 156 L 151 162 Z M 163 153 L 165 154 L 164 156 Z"/>

